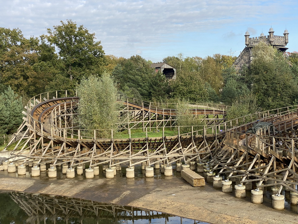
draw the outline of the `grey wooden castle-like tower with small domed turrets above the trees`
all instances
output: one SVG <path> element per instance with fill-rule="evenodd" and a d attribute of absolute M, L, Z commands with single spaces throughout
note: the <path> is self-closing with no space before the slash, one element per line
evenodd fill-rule
<path fill-rule="evenodd" d="M 243 66 L 246 66 L 246 67 L 250 66 L 250 63 L 252 62 L 252 58 L 253 58 L 252 48 L 258 45 L 260 42 L 264 42 L 267 45 L 271 45 L 282 52 L 285 52 L 288 49 L 287 47 L 285 47 L 289 42 L 288 30 L 285 30 L 285 32 L 283 33 L 283 36 L 275 36 L 273 35 L 274 30 L 271 27 L 268 33 L 269 33 L 268 36 L 265 36 L 264 33 L 261 33 L 259 37 L 250 38 L 249 32 L 246 31 L 244 35 L 246 47 L 243 49 L 243 51 L 240 53 L 238 58 L 233 63 L 233 66 L 235 67 L 237 72 L 240 72 Z"/>

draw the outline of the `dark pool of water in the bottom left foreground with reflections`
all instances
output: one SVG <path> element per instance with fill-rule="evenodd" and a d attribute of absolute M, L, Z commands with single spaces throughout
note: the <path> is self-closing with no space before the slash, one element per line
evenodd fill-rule
<path fill-rule="evenodd" d="M 18 209 L 13 201 L 19 205 Z M 76 198 L 11 192 L 0 194 L 0 224 L 204 223 L 139 208 Z"/>

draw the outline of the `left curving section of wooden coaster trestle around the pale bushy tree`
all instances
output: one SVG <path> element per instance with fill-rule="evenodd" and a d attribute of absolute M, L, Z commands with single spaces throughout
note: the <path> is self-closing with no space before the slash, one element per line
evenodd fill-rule
<path fill-rule="evenodd" d="M 53 99 L 51 94 L 54 95 Z M 103 163 L 117 165 L 125 162 L 129 162 L 131 166 L 141 162 L 147 162 L 148 165 L 157 162 L 169 164 L 180 159 L 195 160 L 200 155 L 207 158 L 210 155 L 207 151 L 208 144 L 215 141 L 214 135 L 226 119 L 226 112 L 220 110 L 223 108 L 189 109 L 194 116 L 202 116 L 209 124 L 218 126 L 209 135 L 204 128 L 199 132 L 190 127 L 189 133 L 182 134 L 177 127 L 177 136 L 166 137 L 165 128 L 175 126 L 175 109 L 159 108 L 150 102 L 136 99 L 123 100 L 122 96 L 119 97 L 119 103 L 124 108 L 121 111 L 122 122 L 119 128 L 128 129 L 128 137 L 117 139 L 111 130 L 111 138 L 101 139 L 98 137 L 98 130 L 76 129 L 73 118 L 76 116 L 78 97 L 69 96 L 71 93 L 67 91 L 63 92 L 64 97 L 61 94 L 45 93 L 29 101 L 26 107 L 27 117 L 9 143 L 16 142 L 11 160 L 26 164 L 33 159 L 38 164 L 52 165 L 69 162 L 70 166 L 87 163 L 92 167 Z M 134 130 L 132 127 L 143 130 L 144 137 L 131 138 L 131 130 Z M 151 129 L 160 132 L 160 137 L 148 137 Z M 201 132 L 204 132 L 204 137 L 199 135 Z M 27 155 L 24 155 L 26 151 Z"/>

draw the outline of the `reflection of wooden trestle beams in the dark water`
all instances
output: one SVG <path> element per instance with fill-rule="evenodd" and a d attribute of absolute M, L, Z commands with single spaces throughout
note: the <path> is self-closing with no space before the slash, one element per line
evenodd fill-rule
<path fill-rule="evenodd" d="M 153 219 L 169 221 L 170 214 L 157 211 L 141 210 L 139 208 L 112 205 L 94 201 L 87 201 L 76 198 L 49 196 L 42 194 L 28 193 L 10 193 L 11 198 L 27 213 L 29 218 L 27 222 L 37 224 L 49 219 L 51 223 L 60 223 L 63 220 L 66 223 L 83 223 L 84 219 L 99 223 L 100 220 L 148 220 Z M 160 220 L 160 221 L 161 221 Z M 122 223 L 126 223 L 123 222 Z M 182 224 L 182 218 L 181 218 Z"/>

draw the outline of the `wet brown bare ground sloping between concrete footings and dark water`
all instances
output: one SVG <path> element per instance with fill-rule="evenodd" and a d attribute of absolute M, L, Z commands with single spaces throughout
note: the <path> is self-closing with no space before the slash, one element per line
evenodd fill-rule
<path fill-rule="evenodd" d="M 274 210 L 270 196 L 264 197 L 264 204 L 255 205 L 251 203 L 249 191 L 245 199 L 238 199 L 234 193 L 222 193 L 211 184 L 194 188 L 178 173 L 172 177 L 158 173 L 154 178 L 144 178 L 143 175 L 141 171 L 133 179 L 125 178 L 123 173 L 117 173 L 113 179 L 105 179 L 103 174 L 93 179 L 83 176 L 66 179 L 61 174 L 58 178 L 49 179 L 46 172 L 41 172 L 41 177 L 32 178 L 28 174 L 17 177 L 17 174 L 0 171 L 0 190 L 54 194 L 133 206 L 208 223 L 298 223 L 297 206 L 288 205 L 283 211 Z"/>

